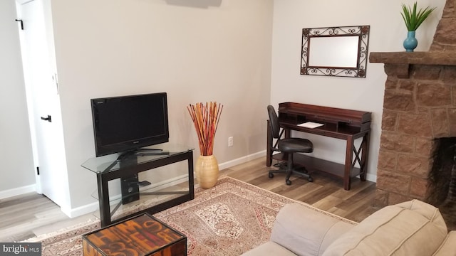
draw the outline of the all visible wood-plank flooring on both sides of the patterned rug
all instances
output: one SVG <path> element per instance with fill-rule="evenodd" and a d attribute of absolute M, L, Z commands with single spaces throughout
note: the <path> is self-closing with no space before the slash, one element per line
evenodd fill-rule
<path fill-rule="evenodd" d="M 375 183 L 371 181 L 362 182 L 356 178 L 351 190 L 345 191 L 341 180 L 315 173 L 312 174 L 312 183 L 304 178 L 291 177 L 291 186 L 286 186 L 284 175 L 268 177 L 267 171 L 271 168 L 266 167 L 266 159 L 261 157 L 224 169 L 220 176 L 237 178 L 357 222 L 377 210 L 371 206 L 375 195 Z M 6 198 L 0 200 L 0 242 L 33 238 L 93 218 L 93 214 L 88 214 L 70 219 L 46 196 L 36 193 Z"/>

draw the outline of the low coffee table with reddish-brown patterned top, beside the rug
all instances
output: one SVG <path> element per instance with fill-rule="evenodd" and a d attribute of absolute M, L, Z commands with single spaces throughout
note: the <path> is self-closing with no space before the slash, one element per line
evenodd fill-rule
<path fill-rule="evenodd" d="M 187 237 L 148 213 L 83 235 L 85 256 L 187 255 Z"/>

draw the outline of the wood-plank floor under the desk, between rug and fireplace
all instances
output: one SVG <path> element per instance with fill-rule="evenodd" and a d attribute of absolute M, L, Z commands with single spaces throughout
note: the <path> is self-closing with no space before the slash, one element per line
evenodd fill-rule
<path fill-rule="evenodd" d="M 290 178 L 291 185 L 287 186 L 285 176 L 282 174 L 276 174 L 274 178 L 269 178 L 267 175 L 269 169 L 273 168 L 272 166 L 271 168 L 266 167 L 266 159 L 259 158 L 225 169 L 221 176 L 237 178 L 357 222 L 378 210 L 378 208 L 372 207 L 375 196 L 374 182 L 361 181 L 359 178 L 355 178 L 352 181 L 351 190 L 346 191 L 343 189 L 341 179 L 326 174 L 312 173 L 314 182 L 309 182 L 306 178 L 292 176 Z"/>

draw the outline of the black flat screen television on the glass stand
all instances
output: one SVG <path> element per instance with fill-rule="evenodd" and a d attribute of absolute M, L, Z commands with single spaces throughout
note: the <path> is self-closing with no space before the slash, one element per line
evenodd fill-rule
<path fill-rule="evenodd" d="M 168 142 L 166 92 L 91 99 L 95 154 L 138 151 Z"/>

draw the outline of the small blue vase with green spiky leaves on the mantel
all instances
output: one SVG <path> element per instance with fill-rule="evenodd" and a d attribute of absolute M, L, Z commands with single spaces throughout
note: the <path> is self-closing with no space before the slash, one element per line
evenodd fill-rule
<path fill-rule="evenodd" d="M 405 6 L 402 4 L 402 13 L 400 14 L 405 22 L 405 26 L 407 27 L 407 38 L 403 43 L 405 51 L 413 52 L 415 48 L 418 46 L 418 41 L 415 38 L 415 31 L 418 27 L 425 21 L 425 19 L 435 10 L 434 8 L 430 8 L 427 6 L 425 9 L 420 9 L 417 11 L 417 2 L 413 4 L 413 8 L 410 6 Z"/>

